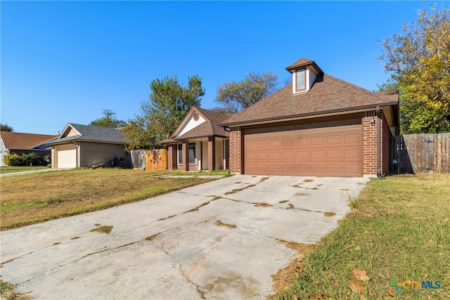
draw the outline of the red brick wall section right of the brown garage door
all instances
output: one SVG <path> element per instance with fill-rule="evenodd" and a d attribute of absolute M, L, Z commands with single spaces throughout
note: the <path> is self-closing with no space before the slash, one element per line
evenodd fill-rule
<path fill-rule="evenodd" d="M 371 124 L 371 119 L 374 117 L 375 123 Z M 380 111 L 380 121 L 382 122 L 380 128 L 381 135 L 381 149 L 380 149 L 380 171 L 386 174 L 389 171 L 389 147 L 390 147 L 390 130 L 386 124 L 383 116 L 383 111 Z M 376 110 L 364 112 L 362 118 L 363 124 L 363 174 L 376 175 L 377 174 L 377 145 L 378 145 L 378 118 Z"/>

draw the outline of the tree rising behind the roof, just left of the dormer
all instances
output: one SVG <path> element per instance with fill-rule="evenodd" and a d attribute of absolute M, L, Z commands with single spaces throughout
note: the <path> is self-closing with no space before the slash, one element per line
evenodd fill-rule
<path fill-rule="evenodd" d="M 244 80 L 231 81 L 217 86 L 214 110 L 236 114 L 276 91 L 278 76 L 271 72 L 249 73 Z"/>

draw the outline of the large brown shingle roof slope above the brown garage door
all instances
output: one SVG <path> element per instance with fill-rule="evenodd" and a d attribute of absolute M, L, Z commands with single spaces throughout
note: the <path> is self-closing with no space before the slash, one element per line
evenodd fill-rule
<path fill-rule="evenodd" d="M 328 74 L 321 74 L 309 91 L 293 93 L 292 83 L 288 84 L 231 116 L 221 126 L 344 112 L 378 105 L 397 105 L 398 102 L 397 92 L 373 93 Z"/>

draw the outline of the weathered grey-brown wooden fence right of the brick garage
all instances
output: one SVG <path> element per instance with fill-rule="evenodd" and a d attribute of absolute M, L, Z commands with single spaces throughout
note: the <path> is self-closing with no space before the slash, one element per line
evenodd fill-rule
<path fill-rule="evenodd" d="M 450 133 L 394 136 L 392 143 L 395 173 L 450 173 Z"/>

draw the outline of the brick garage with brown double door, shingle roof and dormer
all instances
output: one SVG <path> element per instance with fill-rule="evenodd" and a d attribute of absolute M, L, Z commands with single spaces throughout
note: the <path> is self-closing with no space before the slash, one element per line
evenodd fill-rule
<path fill-rule="evenodd" d="M 386 174 L 392 157 L 390 138 L 399 134 L 398 92 L 362 89 L 323 74 L 307 58 L 286 70 L 292 73 L 291 84 L 221 123 L 230 131 L 230 171 Z"/>

